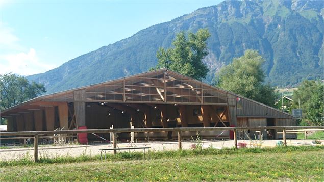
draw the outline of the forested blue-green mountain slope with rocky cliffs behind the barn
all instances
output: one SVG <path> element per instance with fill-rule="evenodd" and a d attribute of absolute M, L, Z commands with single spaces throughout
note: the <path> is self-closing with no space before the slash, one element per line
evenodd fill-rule
<path fill-rule="evenodd" d="M 156 51 L 169 47 L 176 33 L 208 28 L 212 82 L 219 68 L 257 49 L 265 58 L 266 82 L 295 85 L 303 79 L 323 78 L 324 1 L 224 1 L 72 59 L 45 73 L 28 76 L 45 85 L 47 93 L 116 79 L 147 71 L 157 64 Z"/>

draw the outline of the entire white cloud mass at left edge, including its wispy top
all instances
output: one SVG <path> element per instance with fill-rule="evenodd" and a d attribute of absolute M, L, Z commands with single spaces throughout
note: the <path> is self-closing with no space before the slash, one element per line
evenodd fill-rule
<path fill-rule="evenodd" d="M 22 46 L 14 30 L 1 21 L 0 50 L 0 74 L 31 75 L 55 68 L 55 65 L 40 61 L 34 48 Z"/>

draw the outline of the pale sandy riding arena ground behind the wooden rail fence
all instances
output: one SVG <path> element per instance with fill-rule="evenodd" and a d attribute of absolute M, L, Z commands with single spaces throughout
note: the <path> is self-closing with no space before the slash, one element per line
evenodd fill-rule
<path fill-rule="evenodd" d="M 262 146 L 263 147 L 274 147 L 276 146 L 278 141 L 282 140 L 263 140 Z M 253 144 L 256 142 L 260 143 L 260 141 L 250 141 L 250 140 L 238 140 L 238 143 L 247 143 L 248 147 L 254 147 Z M 187 140 L 182 141 L 182 148 L 183 149 L 190 149 L 191 145 L 194 142 Z M 287 145 L 312 145 L 312 140 L 287 140 Z M 156 141 L 156 142 L 141 142 L 135 143 L 137 147 L 147 146 L 151 147 L 151 151 L 162 151 L 162 150 L 177 150 L 178 149 L 178 142 L 177 141 Z M 133 144 L 134 146 L 134 144 Z M 118 143 L 117 147 L 124 148 L 124 147 L 131 147 L 129 143 Z M 224 148 L 224 147 L 234 147 L 233 140 L 203 140 L 202 147 L 214 147 L 214 148 Z M 77 145 L 77 144 L 66 144 L 66 145 L 59 145 L 59 146 L 39 146 L 38 152 L 39 157 L 47 157 L 47 158 L 55 158 L 57 156 L 78 156 L 78 155 L 98 155 L 101 153 L 100 149 L 103 148 L 112 148 L 110 143 L 96 143 L 96 144 L 88 144 L 88 145 Z M 125 151 L 125 150 L 122 150 Z M 126 150 L 126 151 L 143 151 L 143 150 Z M 107 153 L 112 153 L 112 151 L 107 151 Z M 119 151 L 117 151 L 119 152 Z M 0 149 L 0 160 L 14 160 L 22 158 L 26 155 L 30 155 L 32 158 L 34 155 L 34 148 L 7 148 L 7 149 Z"/>

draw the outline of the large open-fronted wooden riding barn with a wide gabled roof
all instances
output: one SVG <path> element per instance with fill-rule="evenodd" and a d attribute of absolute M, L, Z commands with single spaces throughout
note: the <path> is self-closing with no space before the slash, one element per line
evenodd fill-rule
<path fill-rule="evenodd" d="M 167 69 L 40 96 L 3 110 L 1 117 L 8 119 L 8 131 L 129 128 L 130 124 L 135 128 L 296 125 L 288 113 Z M 229 132 L 203 135 L 229 138 Z M 136 137 L 175 136 L 160 132 Z"/>

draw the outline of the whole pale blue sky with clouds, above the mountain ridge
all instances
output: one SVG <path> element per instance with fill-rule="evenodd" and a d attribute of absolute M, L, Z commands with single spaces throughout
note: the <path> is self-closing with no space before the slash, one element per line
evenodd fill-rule
<path fill-rule="evenodd" d="M 219 2 L 0 0 L 0 74 L 45 72 L 151 25 Z"/>

